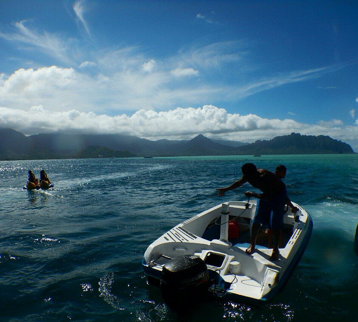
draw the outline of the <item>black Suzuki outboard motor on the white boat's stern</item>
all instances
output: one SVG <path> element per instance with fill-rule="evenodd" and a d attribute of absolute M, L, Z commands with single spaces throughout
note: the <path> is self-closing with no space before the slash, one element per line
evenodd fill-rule
<path fill-rule="evenodd" d="M 178 303 L 201 299 L 209 288 L 209 272 L 204 261 L 195 255 L 183 255 L 165 263 L 160 288 L 165 302 Z"/>

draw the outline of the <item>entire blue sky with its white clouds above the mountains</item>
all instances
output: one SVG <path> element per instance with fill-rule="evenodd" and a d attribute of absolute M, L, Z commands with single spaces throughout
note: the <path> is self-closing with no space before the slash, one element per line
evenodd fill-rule
<path fill-rule="evenodd" d="M 0 1 L 0 127 L 358 151 L 357 1 Z"/>

